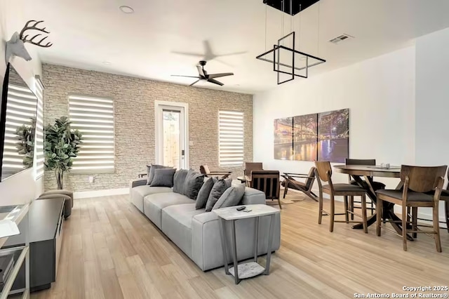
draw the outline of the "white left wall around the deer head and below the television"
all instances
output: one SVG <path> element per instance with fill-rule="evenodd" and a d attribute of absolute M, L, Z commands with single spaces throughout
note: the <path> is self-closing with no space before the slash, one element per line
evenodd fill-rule
<path fill-rule="evenodd" d="M 28 15 L 24 0 L 0 0 L 0 94 L 6 72 L 6 41 L 15 31 L 22 29 Z M 12 61 L 12 65 L 32 90 L 34 90 L 34 75 L 41 74 L 41 62 L 33 47 L 27 45 L 32 61 L 26 62 L 22 58 L 15 58 Z M 34 180 L 34 168 L 27 169 L 0 182 L 0 206 L 27 203 L 41 194 L 42 190 L 43 179 Z"/>

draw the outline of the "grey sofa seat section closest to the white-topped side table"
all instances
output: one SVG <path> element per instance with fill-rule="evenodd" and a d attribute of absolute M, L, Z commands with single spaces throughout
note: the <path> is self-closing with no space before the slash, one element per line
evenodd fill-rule
<path fill-rule="evenodd" d="M 204 213 L 195 204 L 177 204 L 162 209 L 162 231 L 192 258 L 192 218 Z"/>

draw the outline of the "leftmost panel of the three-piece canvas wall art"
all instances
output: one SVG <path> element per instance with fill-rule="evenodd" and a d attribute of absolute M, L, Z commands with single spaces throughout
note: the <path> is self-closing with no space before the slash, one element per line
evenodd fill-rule
<path fill-rule="evenodd" d="M 274 159 L 293 160 L 293 117 L 274 120 Z"/>

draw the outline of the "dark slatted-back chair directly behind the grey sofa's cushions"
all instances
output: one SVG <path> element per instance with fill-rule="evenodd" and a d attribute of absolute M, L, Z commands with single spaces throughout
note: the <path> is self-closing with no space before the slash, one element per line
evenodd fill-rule
<path fill-rule="evenodd" d="M 277 199 L 279 208 L 281 198 L 279 197 L 279 171 L 251 171 L 249 187 L 263 191 L 267 199 Z"/>

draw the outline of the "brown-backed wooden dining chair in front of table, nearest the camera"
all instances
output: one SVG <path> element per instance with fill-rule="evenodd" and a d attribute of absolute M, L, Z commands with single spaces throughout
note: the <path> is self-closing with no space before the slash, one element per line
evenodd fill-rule
<path fill-rule="evenodd" d="M 443 189 L 443 176 L 445 175 L 448 166 L 401 166 L 401 182 L 403 182 L 402 190 L 377 190 L 376 203 L 376 232 L 377 236 L 381 235 L 382 227 L 382 202 L 388 201 L 391 204 L 398 204 L 402 206 L 402 244 L 403 250 L 407 251 L 407 233 L 413 233 L 416 237 L 417 233 L 435 234 L 436 251 L 441 252 L 440 228 L 438 223 L 438 202 L 441 197 L 441 190 Z M 434 195 L 428 194 L 435 190 Z M 411 226 L 408 230 L 407 225 L 407 208 L 412 208 Z M 418 208 L 432 208 L 433 209 L 433 226 L 420 225 L 422 227 L 432 227 L 433 230 L 419 230 L 417 227 L 417 212 Z"/>

